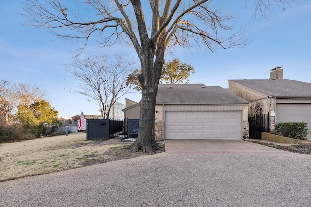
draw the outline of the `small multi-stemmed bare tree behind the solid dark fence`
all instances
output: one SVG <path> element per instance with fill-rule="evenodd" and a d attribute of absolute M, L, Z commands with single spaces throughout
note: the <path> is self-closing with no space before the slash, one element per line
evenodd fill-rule
<path fill-rule="evenodd" d="M 66 70 L 82 82 L 77 92 L 96 101 L 105 119 L 113 112 L 115 102 L 129 90 L 125 81 L 133 64 L 121 55 L 90 56 L 74 58 Z"/>

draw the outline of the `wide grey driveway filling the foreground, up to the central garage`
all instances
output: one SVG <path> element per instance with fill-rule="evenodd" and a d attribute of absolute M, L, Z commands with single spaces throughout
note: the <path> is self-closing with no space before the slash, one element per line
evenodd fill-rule
<path fill-rule="evenodd" d="M 0 207 L 310 206 L 310 155 L 246 141 L 165 142 L 160 154 L 2 182 Z"/>

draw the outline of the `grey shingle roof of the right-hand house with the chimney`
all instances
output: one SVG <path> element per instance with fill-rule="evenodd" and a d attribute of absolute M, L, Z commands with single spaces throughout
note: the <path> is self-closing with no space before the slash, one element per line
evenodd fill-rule
<path fill-rule="evenodd" d="M 311 83 L 289 79 L 229 80 L 266 96 L 311 97 Z"/>

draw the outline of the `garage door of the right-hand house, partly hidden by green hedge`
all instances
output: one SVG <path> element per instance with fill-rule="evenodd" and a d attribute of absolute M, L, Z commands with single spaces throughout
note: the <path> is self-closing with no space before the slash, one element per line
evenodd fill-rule
<path fill-rule="evenodd" d="M 277 104 L 277 123 L 307 122 L 311 131 L 311 104 Z"/>

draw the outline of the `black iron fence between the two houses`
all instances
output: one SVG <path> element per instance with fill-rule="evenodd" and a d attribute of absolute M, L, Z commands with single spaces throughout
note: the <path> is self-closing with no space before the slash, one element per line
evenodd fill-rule
<path fill-rule="evenodd" d="M 268 114 L 248 114 L 249 138 L 260 139 L 261 132 L 269 132 L 269 113 Z"/>

